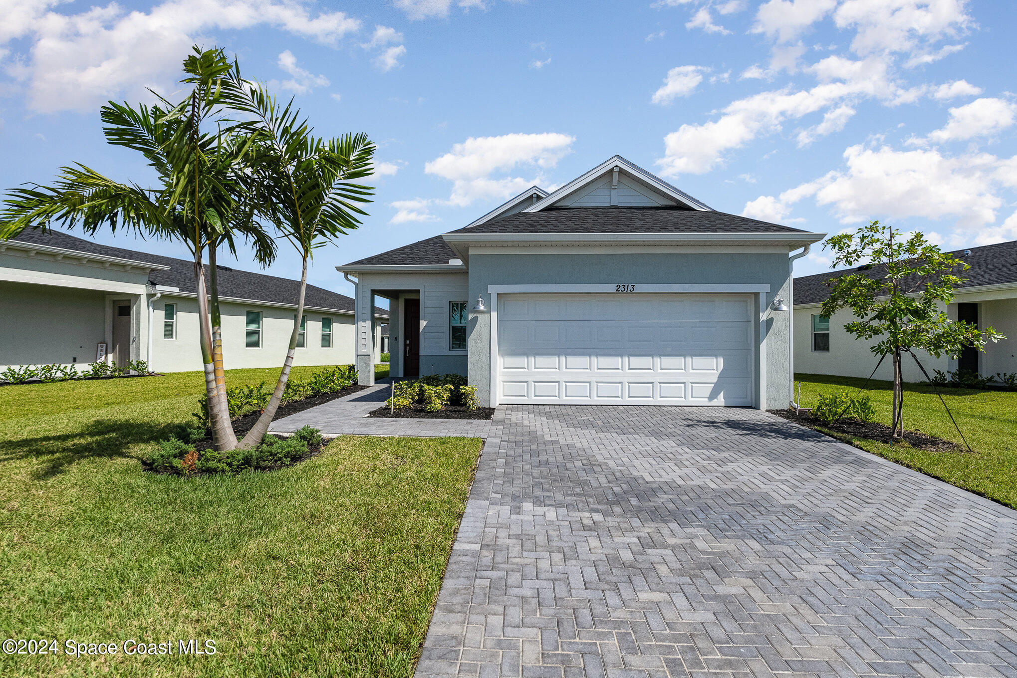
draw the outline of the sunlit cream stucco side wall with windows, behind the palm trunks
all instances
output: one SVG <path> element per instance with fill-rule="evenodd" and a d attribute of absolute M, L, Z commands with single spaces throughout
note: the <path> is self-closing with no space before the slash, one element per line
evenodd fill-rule
<path fill-rule="evenodd" d="M 163 336 L 167 303 L 177 304 L 176 338 Z M 247 311 L 261 312 L 261 348 L 245 347 Z M 293 331 L 293 309 L 224 302 L 223 359 L 226 369 L 281 367 L 286 359 Z M 353 316 L 308 310 L 306 348 L 297 349 L 294 365 L 350 365 L 354 362 Z M 321 318 L 333 320 L 332 348 L 321 348 Z M 164 295 L 155 302 L 153 359 L 157 372 L 185 372 L 201 369 L 198 344 L 197 300 Z"/>

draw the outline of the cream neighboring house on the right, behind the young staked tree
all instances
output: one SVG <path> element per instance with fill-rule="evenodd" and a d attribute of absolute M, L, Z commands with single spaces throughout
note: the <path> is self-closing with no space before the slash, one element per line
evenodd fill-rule
<path fill-rule="evenodd" d="M 918 359 L 930 375 L 933 370 L 952 371 L 958 368 L 994 375 L 997 372 L 1017 372 L 1017 241 L 972 247 L 951 252 L 970 268 L 958 271 L 966 279 L 957 289 L 954 303 L 947 308 L 953 320 L 966 320 L 979 327 L 995 327 L 1007 338 L 985 346 L 981 353 L 973 348 L 964 350 L 958 360 L 934 358 L 919 353 Z M 868 377 L 879 357 L 870 351 L 877 341 L 862 342 L 848 334 L 844 325 L 854 320 L 847 310 L 838 311 L 827 319 L 820 305 L 830 296 L 827 282 L 838 275 L 863 271 L 871 278 L 883 275 L 885 266 L 860 266 L 798 278 L 794 281 L 794 369 L 806 374 L 835 374 Z M 892 379 L 890 359 L 883 361 L 876 378 Z M 924 381 L 925 376 L 914 359 L 905 357 L 902 367 L 904 380 Z"/>

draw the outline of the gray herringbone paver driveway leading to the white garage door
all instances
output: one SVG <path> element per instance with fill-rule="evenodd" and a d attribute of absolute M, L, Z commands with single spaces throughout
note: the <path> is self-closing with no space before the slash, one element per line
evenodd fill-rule
<path fill-rule="evenodd" d="M 513 406 L 417 675 L 1017 676 L 1017 513 L 752 410 Z"/>

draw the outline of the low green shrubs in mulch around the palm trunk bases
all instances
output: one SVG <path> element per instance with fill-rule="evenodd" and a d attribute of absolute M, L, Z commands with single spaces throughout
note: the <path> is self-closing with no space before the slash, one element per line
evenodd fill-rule
<path fill-rule="evenodd" d="M 208 476 L 241 471 L 275 471 L 310 458 L 324 446 L 321 432 L 305 426 L 283 438 L 266 435 L 260 445 L 247 449 L 216 450 L 206 439 L 188 440 L 203 435 L 199 428 L 185 427 L 180 437 L 163 440 L 148 456 L 148 471 L 174 476 Z"/>

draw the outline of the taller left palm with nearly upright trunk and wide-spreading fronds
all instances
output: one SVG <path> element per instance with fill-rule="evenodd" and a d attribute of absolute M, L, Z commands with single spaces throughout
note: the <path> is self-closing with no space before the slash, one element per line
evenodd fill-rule
<path fill-rule="evenodd" d="M 222 50 L 202 52 L 195 47 L 184 61 L 184 70 L 188 76 L 182 82 L 193 87 L 177 105 L 157 95 L 162 106 L 132 108 L 110 102 L 100 112 L 107 140 L 143 155 L 159 177 L 155 187 L 116 182 L 80 164 L 63 167 L 50 186 L 29 184 L 9 191 L 0 210 L 0 238 L 26 228 L 79 225 L 89 235 L 101 228 L 114 233 L 119 228 L 184 243 L 194 260 L 213 440 L 217 449 L 232 449 L 237 438 L 230 423 L 225 373 L 215 367 L 217 358 L 222 367 L 222 341 L 216 333 L 220 324 L 216 251 L 225 246 L 235 253 L 236 239 L 243 237 L 253 242 L 255 257 L 267 264 L 275 257 L 275 243 L 253 219 L 244 190 L 244 161 L 257 142 L 257 133 L 248 124 L 233 123 L 222 115 L 222 96 L 238 86 L 239 68 Z M 215 123 L 215 132 L 203 131 L 208 122 Z M 212 323 L 205 250 L 211 264 Z"/>

